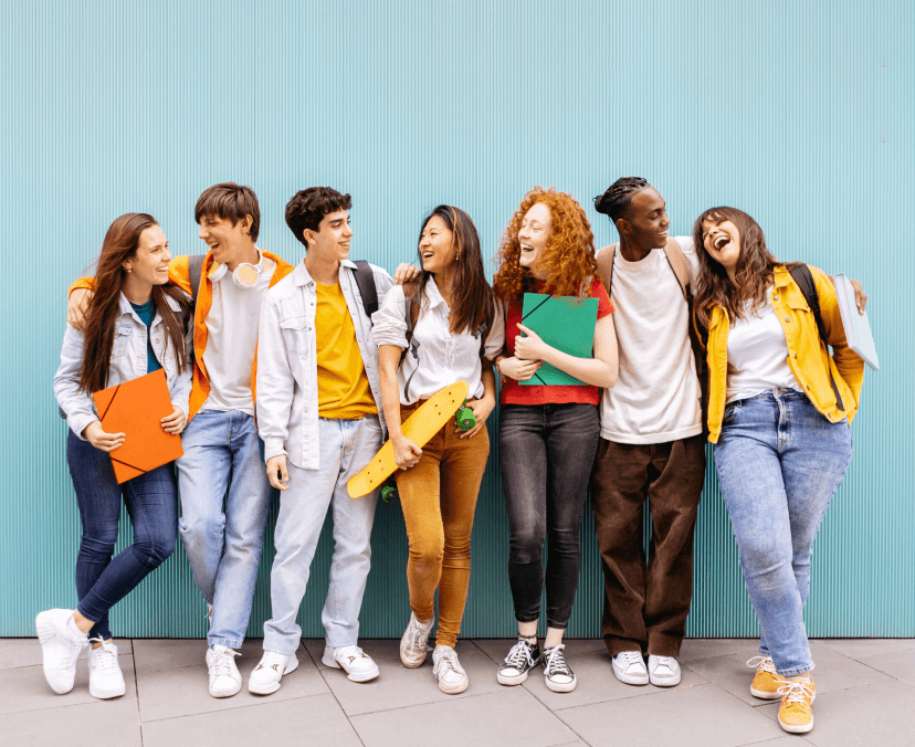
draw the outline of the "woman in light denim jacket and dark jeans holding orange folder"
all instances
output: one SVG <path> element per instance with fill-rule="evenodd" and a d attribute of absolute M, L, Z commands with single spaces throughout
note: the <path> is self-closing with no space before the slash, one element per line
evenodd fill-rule
<path fill-rule="evenodd" d="M 108 610 L 126 597 L 175 548 L 178 495 L 171 464 L 120 485 L 109 452 L 124 433 L 102 428 L 92 393 L 165 369 L 172 402 L 162 418 L 168 433 L 183 430 L 191 388 L 187 297 L 168 282 L 171 255 L 151 215 L 127 213 L 112 223 L 102 244 L 85 333 L 67 325 L 54 394 L 70 427 L 66 461 L 83 525 L 76 558 L 73 609 L 40 612 L 35 628 L 44 675 L 55 693 L 73 688 L 76 660 L 92 642 L 90 692 L 124 695 L 124 677 L 112 643 Z M 130 514 L 134 544 L 112 559 L 122 497 Z"/>

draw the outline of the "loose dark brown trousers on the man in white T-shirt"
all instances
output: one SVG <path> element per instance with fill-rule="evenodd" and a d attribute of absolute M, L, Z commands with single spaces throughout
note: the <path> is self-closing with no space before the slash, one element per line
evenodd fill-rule
<path fill-rule="evenodd" d="M 705 440 L 600 440 L 591 475 L 603 565 L 603 642 L 611 656 L 679 656 L 693 597 L 693 535 L 705 480 Z M 653 523 L 648 570 L 642 507 Z"/>

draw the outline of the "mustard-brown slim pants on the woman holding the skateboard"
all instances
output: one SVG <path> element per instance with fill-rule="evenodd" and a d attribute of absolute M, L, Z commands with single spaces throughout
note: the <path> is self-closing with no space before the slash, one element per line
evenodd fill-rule
<path fill-rule="evenodd" d="M 401 407 L 401 420 L 417 407 Z M 429 620 L 438 588 L 437 643 L 452 648 L 467 601 L 473 514 L 490 455 L 485 425 L 472 439 L 459 439 L 455 430 L 452 419 L 422 448 L 416 466 L 395 475 L 410 540 L 410 607 L 417 618 Z"/>

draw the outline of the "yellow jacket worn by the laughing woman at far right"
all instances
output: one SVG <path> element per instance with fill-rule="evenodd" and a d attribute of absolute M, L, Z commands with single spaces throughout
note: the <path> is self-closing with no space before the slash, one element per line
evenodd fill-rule
<path fill-rule="evenodd" d="M 822 270 L 810 267 L 810 271 L 817 285 L 820 315 L 833 353 L 830 356 L 827 346 L 820 339 L 817 319 L 807 305 L 803 293 L 788 270 L 778 265 L 775 267 L 770 293 L 772 307 L 785 329 L 785 339 L 788 343 L 788 366 L 811 404 L 827 420 L 834 423 L 848 417 L 851 423 L 858 412 L 861 386 L 864 381 L 864 361 L 849 348 L 845 340 L 845 330 L 839 314 L 839 302 L 835 299 L 835 288 L 831 281 Z M 712 309 L 712 320 L 708 325 L 706 348 L 708 440 L 712 443 L 718 442 L 727 399 L 727 334 L 729 329 L 730 322 L 727 312 L 721 306 L 715 306 Z M 830 383 L 830 370 L 839 389 L 842 408 L 839 407 Z"/>

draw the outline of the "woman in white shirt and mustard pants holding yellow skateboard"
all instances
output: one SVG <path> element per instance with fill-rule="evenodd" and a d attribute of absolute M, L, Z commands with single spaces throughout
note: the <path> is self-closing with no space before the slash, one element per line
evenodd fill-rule
<path fill-rule="evenodd" d="M 496 312 L 480 236 L 467 213 L 439 206 L 423 221 L 418 243 L 422 275 L 416 288 L 395 285 L 372 322 L 381 400 L 410 539 L 411 613 L 400 659 L 410 669 L 425 661 L 438 589 L 433 673 L 439 688 L 454 694 L 469 684 L 454 646 L 470 585 L 476 496 L 490 454 L 486 419 L 495 407 L 491 361 L 505 341 L 504 319 Z M 408 338 L 410 322 L 413 333 Z M 452 420 L 420 449 L 403 435 L 401 423 L 424 399 L 460 380 L 470 386 L 467 407 L 476 424 L 464 432 Z"/>

